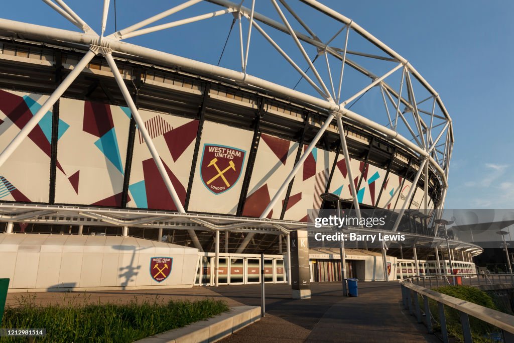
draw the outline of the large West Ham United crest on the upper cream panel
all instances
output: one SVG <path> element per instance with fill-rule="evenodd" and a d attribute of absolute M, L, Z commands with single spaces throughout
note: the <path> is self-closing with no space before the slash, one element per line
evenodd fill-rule
<path fill-rule="evenodd" d="M 223 193 L 237 183 L 246 151 L 215 144 L 205 144 L 201 154 L 201 180 L 214 194 Z"/>

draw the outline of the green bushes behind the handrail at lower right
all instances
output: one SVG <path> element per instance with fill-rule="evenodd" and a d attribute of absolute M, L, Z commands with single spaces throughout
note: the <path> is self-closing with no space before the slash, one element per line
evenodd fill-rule
<path fill-rule="evenodd" d="M 469 301 L 486 308 L 497 310 L 498 308 L 494 303 L 494 300 L 484 291 L 471 286 L 443 286 L 434 288 L 435 292 L 446 294 L 454 298 Z M 423 309 L 423 299 L 419 299 L 421 309 Z M 429 299 L 430 312 L 432 317 L 439 323 L 439 309 L 435 300 Z M 451 309 L 448 306 L 445 307 L 446 327 L 448 334 L 455 337 L 460 341 L 464 341 L 461 326 L 461 317 L 459 312 L 455 309 Z M 480 319 L 469 316 L 469 324 L 471 327 L 471 335 L 473 342 L 497 342 L 494 337 L 498 336 L 499 329 L 491 324 L 486 323 Z M 434 327 L 435 330 L 440 330 L 439 324 Z"/>

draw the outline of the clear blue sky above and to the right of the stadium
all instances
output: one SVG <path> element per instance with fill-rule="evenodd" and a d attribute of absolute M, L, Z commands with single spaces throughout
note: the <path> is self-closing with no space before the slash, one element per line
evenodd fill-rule
<path fill-rule="evenodd" d="M 514 93 L 514 23 L 511 19 L 514 2 L 403 0 L 323 3 L 350 17 L 408 59 L 443 99 L 453 120 L 455 136 L 446 207 L 514 208 L 514 174 L 511 172 L 514 166 L 511 133 L 514 128 L 514 104 L 511 101 Z M 67 4 L 98 31 L 103 1 L 68 0 Z M 179 2 L 118 0 L 118 29 L 176 4 Z M 250 4 L 245 0 L 244 6 Z M 270 13 L 269 4 L 258 0 L 256 10 Z M 113 5 L 114 0 L 111 0 L 111 8 Z M 186 10 L 183 15 L 218 9 L 211 4 L 195 6 L 205 10 Z M 43 2 L 6 2 L 2 7 L 0 16 L 6 19 L 75 28 Z M 313 23 L 316 32 L 320 32 L 325 40 L 337 31 L 337 26 L 325 23 L 309 7 L 299 5 L 298 11 L 306 21 Z M 180 19 L 180 15 L 170 17 L 170 20 Z M 277 17 L 275 19 L 278 20 Z M 229 14 L 187 27 L 144 35 L 130 42 L 216 64 L 231 21 Z M 111 11 L 107 32 L 113 30 Z M 222 66 L 237 64 L 240 59 L 237 35 L 234 29 Z M 270 64 L 266 57 L 276 52 L 268 50 L 269 45 L 259 34 L 252 32 L 252 37 L 249 73 L 290 87 L 296 84 L 299 78 L 296 71 L 287 64 Z M 294 48 L 290 38 L 277 37 L 277 41 Z M 291 56 L 300 55 L 296 51 L 291 52 Z M 305 64 L 300 65 L 306 67 Z M 348 78 L 352 78 L 351 71 L 348 71 Z M 302 82 L 297 89 L 309 92 L 307 88 Z M 376 106 L 383 107 L 383 104 L 362 100 L 360 107 L 353 110 L 374 113 Z"/>

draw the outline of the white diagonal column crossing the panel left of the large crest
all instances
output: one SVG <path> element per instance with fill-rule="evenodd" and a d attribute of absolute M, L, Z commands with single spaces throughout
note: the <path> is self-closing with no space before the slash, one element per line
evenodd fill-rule
<path fill-rule="evenodd" d="M 105 53 L 104 57 L 107 60 L 107 63 L 109 64 L 109 68 L 111 68 L 111 71 L 114 75 L 114 78 L 116 79 L 116 83 L 118 84 L 118 87 L 120 88 L 121 94 L 123 95 L 125 102 L 127 103 L 128 107 L 131 110 L 132 117 L 136 121 L 137 128 L 139 129 L 139 132 L 141 132 L 141 135 L 144 138 L 144 142 L 146 143 L 146 146 L 148 147 L 148 150 L 150 151 L 150 154 L 152 155 L 152 158 L 154 159 L 155 165 L 157 166 L 157 169 L 159 170 L 159 173 L 162 177 L 164 185 L 166 185 L 166 188 L 168 189 L 168 192 L 171 195 L 171 198 L 173 200 L 173 203 L 175 204 L 175 207 L 177 208 L 177 211 L 180 213 L 186 213 L 186 210 L 184 209 L 184 207 L 182 206 L 182 203 L 180 202 L 180 198 L 178 197 L 175 187 L 173 186 L 173 184 L 171 182 L 170 176 L 168 175 L 168 172 L 164 168 L 164 165 L 159 156 L 159 153 L 157 152 L 157 149 L 155 148 L 152 138 L 150 137 L 148 130 L 146 130 L 146 127 L 144 126 L 144 122 L 141 119 L 141 116 L 139 115 L 139 111 L 136 107 L 136 104 L 134 103 L 134 100 L 132 99 L 130 92 L 128 92 L 125 81 L 123 81 L 123 78 L 120 74 L 118 66 L 116 65 L 116 62 L 113 59 L 113 56 L 111 55 L 111 52 Z M 191 240 L 193 241 L 194 246 L 198 250 L 204 251 L 204 249 L 201 247 L 198 237 L 196 237 L 196 233 L 194 232 L 194 230 L 188 229 L 188 233 L 189 233 L 189 236 L 191 237 Z"/>

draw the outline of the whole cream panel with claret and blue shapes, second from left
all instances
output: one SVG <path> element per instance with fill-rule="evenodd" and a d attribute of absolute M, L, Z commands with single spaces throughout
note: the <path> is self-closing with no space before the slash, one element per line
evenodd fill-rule
<path fill-rule="evenodd" d="M 121 206 L 131 113 L 61 98 L 56 203 Z"/>

